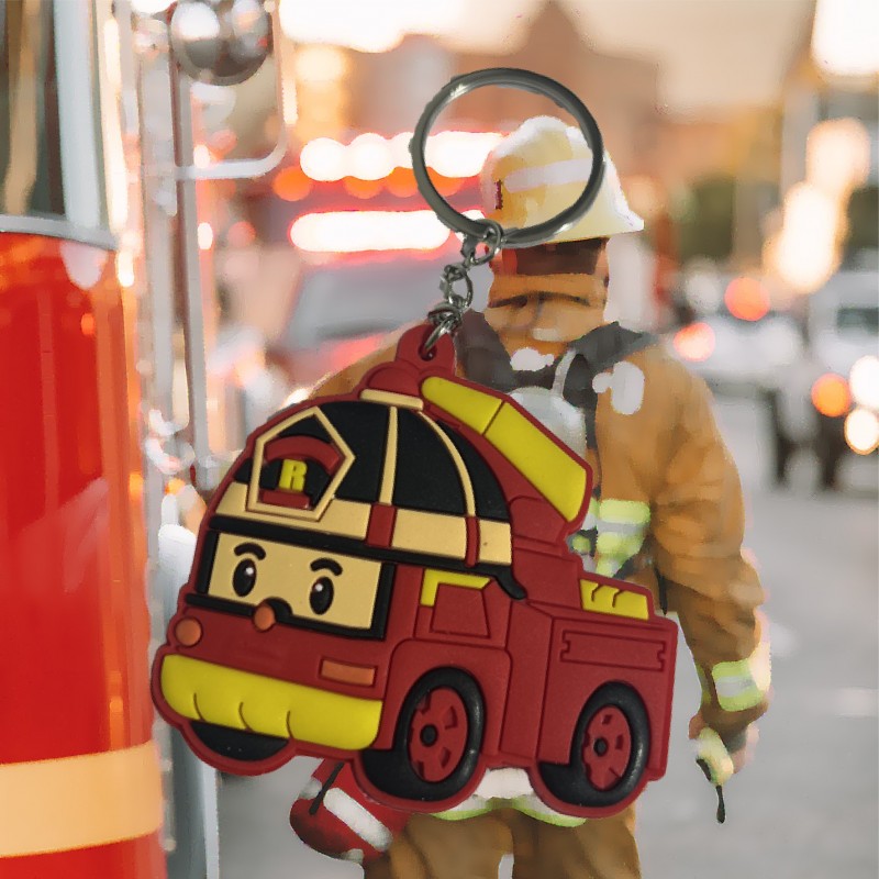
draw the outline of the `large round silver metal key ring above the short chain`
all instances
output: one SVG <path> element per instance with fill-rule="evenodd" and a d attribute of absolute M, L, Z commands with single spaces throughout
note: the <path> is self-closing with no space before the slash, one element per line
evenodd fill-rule
<path fill-rule="evenodd" d="M 469 216 L 456 211 L 436 191 L 424 162 L 427 135 L 439 113 L 452 101 L 483 86 L 522 89 L 523 91 L 531 91 L 550 98 L 558 107 L 567 110 L 574 116 L 583 133 L 583 137 L 586 137 L 587 144 L 589 144 L 589 148 L 592 151 L 592 170 L 589 174 L 583 191 L 574 204 L 565 208 L 552 220 L 546 220 L 534 226 L 504 230 L 500 242 L 501 247 L 533 247 L 535 244 L 543 244 L 560 232 L 570 229 L 589 210 L 596 200 L 601 181 L 604 179 L 604 142 L 598 123 L 589 110 L 586 109 L 586 104 L 570 89 L 566 89 L 555 79 L 515 67 L 491 67 L 453 79 L 436 92 L 431 102 L 424 108 L 424 112 L 421 114 L 418 125 L 415 125 L 415 132 L 409 144 L 415 181 L 421 194 L 424 196 L 427 204 L 433 208 L 443 225 L 470 238 L 479 241 L 486 238 L 487 221 L 471 220 Z"/>

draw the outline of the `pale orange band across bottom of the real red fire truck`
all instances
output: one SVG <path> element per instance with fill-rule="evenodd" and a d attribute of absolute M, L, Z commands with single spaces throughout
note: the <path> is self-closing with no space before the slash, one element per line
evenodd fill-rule
<path fill-rule="evenodd" d="M 153 742 L 0 766 L 0 858 L 120 843 L 160 824 Z"/>

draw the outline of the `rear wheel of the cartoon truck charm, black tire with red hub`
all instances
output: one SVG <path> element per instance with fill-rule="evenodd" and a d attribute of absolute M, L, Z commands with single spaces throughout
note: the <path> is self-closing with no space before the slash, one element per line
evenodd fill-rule
<path fill-rule="evenodd" d="M 601 734 L 605 726 L 613 727 L 610 742 Z M 563 802 L 601 809 L 616 805 L 636 790 L 649 753 L 650 725 L 641 697 L 628 685 L 607 683 L 580 713 L 569 763 L 542 763 L 538 770 Z"/>

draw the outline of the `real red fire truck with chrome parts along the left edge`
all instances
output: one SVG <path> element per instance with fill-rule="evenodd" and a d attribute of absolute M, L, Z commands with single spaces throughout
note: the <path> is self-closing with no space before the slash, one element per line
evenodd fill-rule
<path fill-rule="evenodd" d="M 211 15 L 231 16 L 237 30 L 223 33 L 246 43 L 238 74 L 255 69 L 268 15 L 244 4 L 0 9 L 3 879 L 218 875 L 211 779 L 154 727 L 148 650 L 151 616 L 167 619 L 165 485 L 204 445 L 203 422 L 186 436 L 173 424 L 175 294 L 190 293 L 179 300 L 198 329 L 196 170 L 229 170 L 194 168 L 178 62 L 205 16 L 208 33 Z M 192 14 L 201 33 L 175 37 Z M 219 80 L 234 80 L 227 46 L 214 48 Z"/>

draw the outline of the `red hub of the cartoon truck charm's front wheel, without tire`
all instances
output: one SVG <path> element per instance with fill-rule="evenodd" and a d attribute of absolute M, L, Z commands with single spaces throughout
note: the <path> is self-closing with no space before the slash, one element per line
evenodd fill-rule
<path fill-rule="evenodd" d="M 467 706 L 455 690 L 438 687 L 415 705 L 409 727 L 409 760 L 424 780 L 444 781 L 467 750 Z"/>

